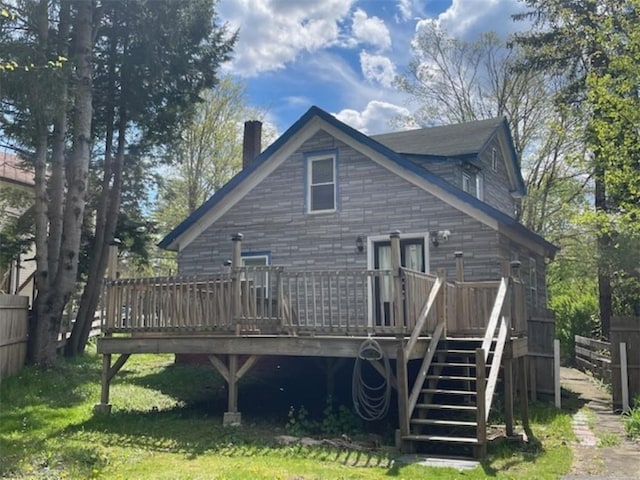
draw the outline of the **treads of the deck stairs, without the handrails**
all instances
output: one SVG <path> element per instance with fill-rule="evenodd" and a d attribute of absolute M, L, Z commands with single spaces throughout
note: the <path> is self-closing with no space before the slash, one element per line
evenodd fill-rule
<path fill-rule="evenodd" d="M 424 386 L 410 419 L 410 442 L 420 453 L 478 457 L 483 448 L 478 439 L 486 429 L 478 419 L 476 349 L 482 340 L 448 338 L 438 342 Z M 491 343 L 486 376 L 496 342 Z M 480 389 L 482 392 L 484 388 Z"/>

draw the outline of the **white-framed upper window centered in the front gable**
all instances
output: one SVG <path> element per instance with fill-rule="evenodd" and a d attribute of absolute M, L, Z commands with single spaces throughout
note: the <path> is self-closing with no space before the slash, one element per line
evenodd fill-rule
<path fill-rule="evenodd" d="M 307 211 L 309 213 L 336 210 L 336 157 L 309 157 L 307 164 Z"/>

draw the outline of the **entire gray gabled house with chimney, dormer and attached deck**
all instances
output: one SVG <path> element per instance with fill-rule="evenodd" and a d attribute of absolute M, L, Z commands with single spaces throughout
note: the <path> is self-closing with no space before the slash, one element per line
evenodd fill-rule
<path fill-rule="evenodd" d="M 227 380 L 234 423 L 237 381 L 259 356 L 354 358 L 375 344 L 395 361 L 385 377 L 407 449 L 482 456 L 500 366 L 507 431 L 514 366 L 526 425 L 527 374 L 534 391 L 549 377 L 556 247 L 516 219 L 525 187 L 505 119 L 367 136 L 311 107 L 262 153 L 260 128 L 245 125 L 243 170 L 160 242 L 179 277 L 107 284 L 97 408 L 129 355 L 199 353 Z"/>

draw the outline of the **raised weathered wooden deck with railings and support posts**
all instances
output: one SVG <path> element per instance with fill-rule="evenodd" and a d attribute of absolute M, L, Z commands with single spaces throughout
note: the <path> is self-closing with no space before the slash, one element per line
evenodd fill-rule
<path fill-rule="evenodd" d="M 395 360 L 401 438 L 432 441 L 437 436 L 412 430 L 414 423 L 418 431 L 424 428 L 425 412 L 419 410 L 425 405 L 437 408 L 428 392 L 440 391 L 434 389 L 434 378 L 442 376 L 443 367 L 432 363 L 442 365 L 452 354 L 442 350 L 442 340 L 450 348 L 454 341 L 465 342 L 465 348 L 475 342 L 468 351 L 465 385 L 477 386 L 469 395 L 478 396 L 478 416 L 472 422 L 478 433 L 465 441 L 478 446 L 482 456 L 500 366 L 506 362 L 508 403 L 511 361 L 527 353 L 523 285 L 517 275 L 465 282 L 458 274 L 458 281 L 448 282 L 443 271 L 434 276 L 408 270 L 399 265 L 399 237 L 391 240 L 392 270 L 244 267 L 237 241 L 232 267 L 220 275 L 109 280 L 103 336 L 98 339 L 104 362 L 97 409 L 109 410 L 110 382 L 131 354 L 202 354 L 228 383 L 225 423 L 239 423 L 237 382 L 258 357 L 356 358 L 363 342 L 374 340 L 387 358 Z M 459 355 L 456 352 L 453 355 Z M 114 354 L 120 357 L 112 364 Z M 422 363 L 410 386 L 411 360 Z M 379 361 L 371 364 L 379 371 L 383 368 Z M 521 368 L 526 372 L 524 365 Z M 469 377 L 471 371 L 475 377 Z M 430 388 L 425 389 L 427 379 Z M 420 418 L 412 420 L 416 415 Z"/>

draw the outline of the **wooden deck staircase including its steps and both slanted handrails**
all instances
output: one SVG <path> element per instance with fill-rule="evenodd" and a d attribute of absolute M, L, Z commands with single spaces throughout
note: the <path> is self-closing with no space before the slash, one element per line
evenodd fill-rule
<path fill-rule="evenodd" d="M 398 394 L 406 398 L 400 411 L 400 438 L 407 450 L 428 448 L 439 455 L 483 458 L 486 422 L 511 330 L 509 317 L 502 315 L 509 279 L 500 281 L 482 338 L 447 338 L 445 322 L 438 323 L 409 392 L 407 359 L 442 284 L 439 277 L 398 360 Z"/>

